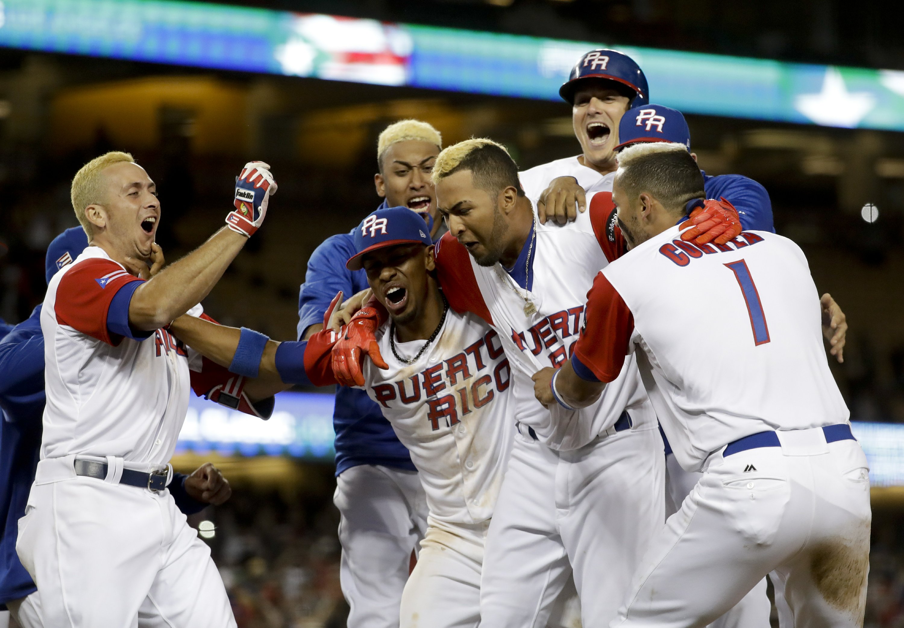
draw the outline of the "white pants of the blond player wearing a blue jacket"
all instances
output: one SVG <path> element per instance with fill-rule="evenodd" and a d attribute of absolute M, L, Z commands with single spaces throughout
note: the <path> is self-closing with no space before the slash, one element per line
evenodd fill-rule
<path fill-rule="evenodd" d="M 398 628 L 411 551 L 427 530 L 427 501 L 418 473 L 375 464 L 336 478 L 341 519 L 339 579 L 351 611 L 349 628 Z"/>

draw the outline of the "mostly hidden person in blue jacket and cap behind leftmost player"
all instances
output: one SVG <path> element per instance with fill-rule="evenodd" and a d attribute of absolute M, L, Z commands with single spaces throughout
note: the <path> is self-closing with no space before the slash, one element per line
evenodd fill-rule
<path fill-rule="evenodd" d="M 72 263 L 88 246 L 81 227 L 65 230 L 47 248 L 46 277 Z M 0 505 L 5 515 L 0 542 L 0 603 L 13 610 L 24 628 L 38 628 L 41 603 L 37 587 L 15 554 L 16 525 L 25 513 L 28 492 L 34 482 L 41 419 L 44 410 L 44 339 L 41 333 L 41 305 L 23 323 L 12 327 L 0 340 Z M 191 475 L 173 473 L 167 487 L 180 511 L 186 515 L 202 511 L 208 504 L 220 505 L 231 496 L 229 482 L 212 464 L 203 464 Z M 138 625 L 160 623 L 146 601 L 138 609 Z"/>

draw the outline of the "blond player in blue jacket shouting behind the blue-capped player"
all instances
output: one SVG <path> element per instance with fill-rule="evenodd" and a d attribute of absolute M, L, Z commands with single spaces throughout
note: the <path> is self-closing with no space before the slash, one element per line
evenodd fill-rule
<path fill-rule="evenodd" d="M 374 174 L 381 207 L 408 207 L 442 229 L 430 172 L 439 154 L 439 132 L 419 120 L 386 127 L 377 142 Z M 338 292 L 367 288 L 363 270 L 345 262 L 355 253 L 355 230 L 325 239 L 307 261 L 298 298 L 298 339 L 322 328 L 324 313 Z M 412 550 L 427 529 L 427 502 L 408 450 L 363 390 L 336 389 L 336 491 L 341 517 L 340 581 L 351 608 L 349 628 L 396 628 Z"/>

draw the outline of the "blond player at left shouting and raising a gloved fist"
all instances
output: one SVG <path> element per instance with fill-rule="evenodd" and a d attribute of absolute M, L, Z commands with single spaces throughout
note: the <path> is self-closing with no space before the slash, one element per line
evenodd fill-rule
<path fill-rule="evenodd" d="M 209 548 L 164 491 L 192 357 L 165 325 L 208 294 L 273 192 L 267 164 L 246 164 L 227 228 L 145 281 L 126 265 L 162 262 L 154 182 L 125 153 L 73 178 L 92 246 L 52 277 L 42 305 L 41 461 L 16 542 L 44 625 L 135 625 L 147 600 L 169 625 L 235 625 Z M 254 413 L 243 385 L 230 376 L 219 390 Z"/>

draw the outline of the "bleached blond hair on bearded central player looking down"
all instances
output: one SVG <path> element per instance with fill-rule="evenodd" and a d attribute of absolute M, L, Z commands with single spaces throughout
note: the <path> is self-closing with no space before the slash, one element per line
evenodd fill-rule
<path fill-rule="evenodd" d="M 498 193 L 512 186 L 519 196 L 524 195 L 518 179 L 518 164 L 504 145 L 486 137 L 472 137 L 443 150 L 433 164 L 430 175 L 436 185 L 450 174 L 470 170 L 476 187 Z"/>

